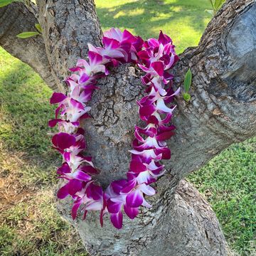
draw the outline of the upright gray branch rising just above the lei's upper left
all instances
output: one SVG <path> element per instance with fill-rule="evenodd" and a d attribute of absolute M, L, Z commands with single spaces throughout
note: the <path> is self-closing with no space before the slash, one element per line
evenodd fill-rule
<path fill-rule="evenodd" d="M 56 80 L 85 58 L 87 43 L 101 44 L 102 31 L 93 0 L 37 1 L 46 53 Z"/>

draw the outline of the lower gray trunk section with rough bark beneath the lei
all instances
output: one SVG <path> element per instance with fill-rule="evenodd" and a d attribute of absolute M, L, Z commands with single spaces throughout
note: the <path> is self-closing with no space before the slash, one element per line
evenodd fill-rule
<path fill-rule="evenodd" d="M 124 218 L 122 230 L 113 228 L 107 218 L 101 228 L 98 213 L 74 222 L 68 201 L 58 203 L 58 210 L 78 230 L 90 255 L 227 255 L 215 213 L 189 183 L 181 181 L 177 190 L 173 187 L 151 203 L 154 207 L 143 209 L 138 218 Z"/>

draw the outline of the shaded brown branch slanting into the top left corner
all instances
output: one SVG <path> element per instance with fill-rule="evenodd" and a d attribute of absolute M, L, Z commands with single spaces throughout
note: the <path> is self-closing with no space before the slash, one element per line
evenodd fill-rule
<path fill-rule="evenodd" d="M 31 66 L 53 90 L 56 82 L 50 72 L 46 48 L 41 36 L 21 39 L 18 33 L 36 31 L 38 23 L 33 14 L 22 3 L 13 3 L 0 8 L 0 46 L 11 55 Z"/>

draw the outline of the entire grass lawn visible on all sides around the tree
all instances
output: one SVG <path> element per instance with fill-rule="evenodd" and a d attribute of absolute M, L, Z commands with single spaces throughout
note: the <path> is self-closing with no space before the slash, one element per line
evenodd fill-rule
<path fill-rule="evenodd" d="M 208 0 L 96 0 L 102 29 L 127 28 L 143 38 L 162 29 L 178 53 L 196 46 L 210 20 Z M 0 48 L 0 255 L 86 255 L 55 211 L 55 168 L 47 121 L 51 90 Z M 254 255 L 256 138 L 230 146 L 188 179 L 215 210 L 230 247 Z"/>

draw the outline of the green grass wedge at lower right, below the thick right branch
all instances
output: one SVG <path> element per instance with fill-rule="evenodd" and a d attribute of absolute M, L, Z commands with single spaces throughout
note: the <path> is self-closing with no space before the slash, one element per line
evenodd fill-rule
<path fill-rule="evenodd" d="M 230 247 L 256 252 L 256 137 L 235 144 L 188 177 L 210 202 Z"/>

